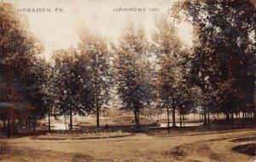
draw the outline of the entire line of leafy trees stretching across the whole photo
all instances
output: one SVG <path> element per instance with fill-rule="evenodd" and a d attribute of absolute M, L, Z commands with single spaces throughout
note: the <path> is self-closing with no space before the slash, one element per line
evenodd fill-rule
<path fill-rule="evenodd" d="M 42 46 L 26 20 L 12 5 L 0 7 L 1 102 L 26 105 L 28 119 L 68 116 L 72 129 L 74 114 L 96 113 L 100 126 L 100 112 L 114 104 L 132 111 L 137 126 L 147 108 L 166 108 L 168 125 L 172 111 L 173 126 L 176 113 L 199 106 L 204 124 L 210 113 L 255 113 L 256 15 L 248 1 L 175 3 L 172 18 L 194 26 L 192 49 L 166 15 L 155 20 L 151 39 L 129 22 L 118 43 L 83 25 L 78 46 L 55 50 L 51 63 L 37 56 Z M 1 119 L 12 120 L 11 113 L 1 111 Z"/>

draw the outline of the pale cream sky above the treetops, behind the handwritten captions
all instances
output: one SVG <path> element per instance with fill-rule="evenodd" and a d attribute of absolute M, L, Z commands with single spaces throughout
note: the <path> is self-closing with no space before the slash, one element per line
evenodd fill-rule
<path fill-rule="evenodd" d="M 154 29 L 154 18 L 167 14 L 173 0 L 13 0 L 19 9 L 49 9 L 50 12 L 21 12 L 26 14 L 31 31 L 44 43 L 44 55 L 49 59 L 52 49 L 68 48 L 78 42 L 77 27 L 84 21 L 85 25 L 102 36 L 116 42 L 126 20 L 144 26 L 148 38 Z M 64 12 L 55 12 L 55 9 Z M 145 8 L 141 11 L 116 12 L 119 8 Z M 159 11 L 149 11 L 149 9 Z M 179 35 L 192 45 L 192 26 L 178 26 Z"/>

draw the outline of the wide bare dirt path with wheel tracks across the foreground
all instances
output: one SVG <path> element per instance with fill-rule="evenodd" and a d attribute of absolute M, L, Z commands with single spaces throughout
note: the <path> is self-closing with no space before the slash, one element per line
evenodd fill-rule
<path fill-rule="evenodd" d="M 193 136 L 136 134 L 98 140 L 42 141 L 29 137 L 1 140 L 3 161 L 234 161 L 252 156 L 232 148 L 241 137 L 256 136 L 254 130 Z M 0 160 L 1 161 L 1 160 Z"/>

